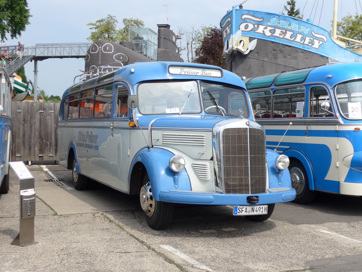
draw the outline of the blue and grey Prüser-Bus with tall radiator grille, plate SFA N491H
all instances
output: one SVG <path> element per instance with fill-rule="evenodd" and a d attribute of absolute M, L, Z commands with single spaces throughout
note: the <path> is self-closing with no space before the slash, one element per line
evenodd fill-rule
<path fill-rule="evenodd" d="M 138 194 L 153 229 L 169 225 L 173 203 L 265 221 L 296 191 L 288 157 L 266 150 L 251 112 L 244 82 L 219 67 L 129 64 L 64 92 L 59 163 L 77 190 L 97 181 Z"/>

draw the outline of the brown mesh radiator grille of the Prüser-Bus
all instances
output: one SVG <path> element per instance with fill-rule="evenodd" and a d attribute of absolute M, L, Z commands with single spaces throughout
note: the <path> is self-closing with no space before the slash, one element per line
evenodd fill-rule
<path fill-rule="evenodd" d="M 223 130 L 222 145 L 225 193 L 265 193 L 264 130 L 226 128 Z"/>

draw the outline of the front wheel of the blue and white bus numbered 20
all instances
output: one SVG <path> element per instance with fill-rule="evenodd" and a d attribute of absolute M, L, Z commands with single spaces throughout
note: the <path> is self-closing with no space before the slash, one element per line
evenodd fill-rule
<path fill-rule="evenodd" d="M 298 204 L 311 203 L 316 197 L 316 191 L 309 189 L 306 169 L 300 162 L 291 162 L 289 165 L 292 187 L 296 190 L 296 198 L 292 202 Z"/>

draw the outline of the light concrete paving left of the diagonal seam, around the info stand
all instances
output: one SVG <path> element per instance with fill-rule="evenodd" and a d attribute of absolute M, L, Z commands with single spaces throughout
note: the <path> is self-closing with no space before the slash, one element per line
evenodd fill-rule
<path fill-rule="evenodd" d="M 43 181 L 51 177 L 39 166 L 28 168 L 35 177 L 38 244 L 10 245 L 19 232 L 19 181 L 10 170 L 10 191 L 0 195 L 0 271 L 180 271 L 107 215 L 139 210 L 135 197 L 106 186 L 88 193 L 72 190 Z M 71 184 L 71 172 L 63 166 L 49 170 Z"/>

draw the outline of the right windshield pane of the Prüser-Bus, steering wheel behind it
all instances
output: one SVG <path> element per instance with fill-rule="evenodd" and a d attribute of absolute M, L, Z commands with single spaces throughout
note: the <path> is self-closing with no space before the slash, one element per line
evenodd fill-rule
<path fill-rule="evenodd" d="M 201 91 L 207 114 L 249 117 L 248 100 L 243 89 L 201 82 Z"/>

